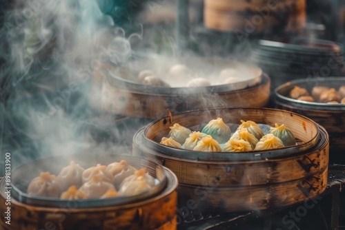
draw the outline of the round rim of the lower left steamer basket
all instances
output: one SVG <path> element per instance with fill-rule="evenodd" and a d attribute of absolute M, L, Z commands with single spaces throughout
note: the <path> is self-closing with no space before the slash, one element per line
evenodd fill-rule
<path fill-rule="evenodd" d="M 177 177 L 175 176 L 175 174 L 172 173 L 172 171 L 170 171 L 170 169 L 146 159 L 148 163 L 155 165 L 155 171 L 158 174 L 158 175 L 155 175 L 155 178 L 159 180 L 159 183 L 158 185 L 155 185 L 155 187 L 152 188 L 152 190 L 143 192 L 135 196 L 119 196 L 115 198 L 92 198 L 92 199 L 83 199 L 83 200 L 62 200 L 60 198 L 32 196 L 22 191 L 19 188 L 19 187 L 23 187 L 23 185 L 19 185 L 19 187 L 17 187 L 18 183 L 20 183 L 21 180 L 23 180 L 23 176 L 21 176 L 22 175 L 21 173 L 25 173 L 27 172 L 27 170 L 34 170 L 35 172 L 37 172 L 37 175 L 35 174 L 33 176 L 37 177 L 39 176 L 39 171 L 47 171 L 45 168 L 47 168 L 49 165 L 41 165 L 40 163 L 50 163 L 50 166 L 56 165 L 56 163 L 59 161 L 61 163 L 62 162 L 66 163 L 65 165 L 59 165 L 61 169 L 62 167 L 66 167 L 66 165 L 68 165 L 68 160 L 69 161 L 74 160 L 75 163 L 79 164 L 78 157 L 79 159 L 82 159 L 79 161 L 83 165 L 91 165 L 91 164 L 95 165 L 93 163 L 90 163 L 90 161 L 86 162 L 85 159 L 90 158 L 90 157 L 91 158 L 95 157 L 93 160 L 99 160 L 103 158 L 103 162 L 105 162 L 105 160 L 110 160 L 111 158 L 112 162 L 114 162 L 115 160 L 128 160 L 130 165 L 136 165 L 136 164 L 140 165 L 140 163 L 142 163 L 139 161 L 142 159 L 140 157 L 121 155 L 121 154 L 119 155 L 99 154 L 99 156 L 97 156 L 97 154 L 73 154 L 72 156 L 69 156 L 68 160 L 62 160 L 62 161 L 61 161 L 61 156 L 62 155 L 56 155 L 56 156 L 39 158 L 36 160 L 30 160 L 27 163 L 23 163 L 22 165 L 15 167 L 12 170 L 12 181 L 11 181 L 13 198 L 17 200 L 18 202 L 21 202 L 22 204 L 25 204 L 25 205 L 32 205 L 34 207 L 44 207 L 44 208 L 48 207 L 52 209 L 61 208 L 61 207 L 69 207 L 66 205 L 70 205 L 71 202 L 74 202 L 76 204 L 76 207 L 74 207 L 75 209 L 88 209 L 88 208 L 99 208 L 99 207 L 106 208 L 110 206 L 112 208 L 114 206 L 132 207 L 132 206 L 137 206 L 138 202 L 139 203 L 146 202 L 146 200 L 159 197 L 159 194 L 161 193 L 161 191 L 164 191 L 168 187 L 169 181 L 167 178 L 167 174 L 172 174 L 169 176 L 172 178 L 175 178 L 175 180 L 177 181 Z M 80 157 L 83 157 L 83 158 L 80 158 Z M 37 164 L 41 165 L 41 167 L 37 167 Z M 33 167 L 33 166 L 36 166 L 36 167 Z M 160 178 L 157 178 L 157 176 L 159 176 Z M 26 180 L 25 183 L 27 183 L 27 185 L 24 185 L 24 187 L 28 186 L 28 183 L 30 181 Z M 2 193 L 4 187 L 6 187 L 5 182 L 2 182 L 2 184 L 0 183 L 0 193 Z"/>

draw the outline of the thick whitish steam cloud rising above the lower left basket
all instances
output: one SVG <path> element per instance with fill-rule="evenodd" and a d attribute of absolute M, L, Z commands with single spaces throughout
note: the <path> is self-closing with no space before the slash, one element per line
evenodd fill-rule
<path fill-rule="evenodd" d="M 0 47 L 1 152 L 12 153 L 14 167 L 96 147 L 84 130 L 95 114 L 89 98 L 100 94 L 92 89 L 92 76 L 102 62 L 128 59 L 124 30 L 97 1 L 19 0 L 14 5 L 3 10 L 0 33 L 6 41 Z"/>

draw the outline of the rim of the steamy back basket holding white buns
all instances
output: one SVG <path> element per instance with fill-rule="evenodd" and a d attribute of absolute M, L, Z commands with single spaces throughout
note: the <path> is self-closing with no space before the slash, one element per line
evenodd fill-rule
<path fill-rule="evenodd" d="M 210 85 L 204 87 L 159 87 L 159 86 L 152 86 L 152 85 L 143 85 L 141 83 L 136 83 L 135 81 L 130 81 L 125 79 L 121 76 L 117 76 L 116 74 L 112 73 L 110 70 L 103 70 L 103 73 L 106 77 L 106 81 L 108 81 L 109 85 L 115 87 L 125 87 L 128 90 L 132 90 L 134 92 L 139 93 L 147 93 L 147 94 L 181 94 L 181 95 L 190 95 L 190 94 L 201 94 L 201 93 L 222 93 L 222 92 L 229 92 L 229 91 L 237 91 L 237 90 L 244 90 L 248 87 L 243 88 L 242 85 L 251 83 L 255 83 L 259 81 L 262 82 L 264 72 L 260 67 L 257 65 L 252 64 L 243 64 L 239 62 L 233 61 L 235 65 L 241 65 L 242 67 L 252 68 L 256 70 L 258 73 L 253 78 L 248 79 L 246 81 L 240 81 L 238 83 L 228 83 L 223 85 Z M 125 67 L 125 66 L 122 66 Z"/>

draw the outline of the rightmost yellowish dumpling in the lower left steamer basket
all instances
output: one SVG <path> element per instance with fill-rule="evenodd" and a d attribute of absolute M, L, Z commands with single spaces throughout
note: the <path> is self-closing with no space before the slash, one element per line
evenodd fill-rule
<path fill-rule="evenodd" d="M 135 171 L 134 175 L 128 176 L 128 178 L 121 182 L 119 194 L 124 196 L 135 196 L 152 189 L 152 186 L 155 184 L 153 182 L 152 185 L 152 181 L 147 179 L 147 175 L 145 169 Z"/>

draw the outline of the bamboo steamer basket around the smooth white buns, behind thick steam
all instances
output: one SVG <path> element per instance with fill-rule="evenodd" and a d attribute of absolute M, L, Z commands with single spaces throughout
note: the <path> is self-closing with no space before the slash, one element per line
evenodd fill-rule
<path fill-rule="evenodd" d="M 172 66 L 174 60 L 154 56 L 150 60 L 161 59 L 162 65 Z M 206 65 L 215 71 L 240 66 L 253 72 L 255 79 L 250 83 L 214 85 L 210 87 L 152 87 L 135 83 L 130 78 L 131 71 L 145 70 L 155 62 L 139 62 L 134 67 L 108 65 L 103 72 L 102 109 L 112 114 L 141 118 L 159 118 L 171 112 L 215 107 L 264 107 L 270 97 L 270 78 L 255 66 L 243 65 L 224 59 L 188 58 L 179 60 L 197 72 Z M 161 65 L 159 65 L 161 66 Z M 205 67 L 205 68 L 208 68 Z M 201 70 L 200 70 L 201 69 Z M 112 74 L 117 72 L 119 74 Z M 134 74 L 136 77 L 136 74 Z M 235 83 L 236 84 L 236 83 Z M 253 84 L 253 85 L 252 85 Z M 256 98 L 253 100 L 253 98 Z"/>

